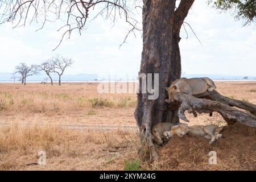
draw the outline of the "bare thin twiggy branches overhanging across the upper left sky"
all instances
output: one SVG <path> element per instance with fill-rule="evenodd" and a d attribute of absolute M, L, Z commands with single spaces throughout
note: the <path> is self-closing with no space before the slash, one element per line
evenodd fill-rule
<path fill-rule="evenodd" d="M 141 1 L 134 1 L 133 5 L 138 7 Z M 89 14 L 90 13 L 90 14 Z M 66 17 L 65 21 L 61 17 Z M 55 22 L 61 20 L 64 25 L 57 31 L 63 31 L 60 46 L 64 38 L 70 38 L 74 30 L 81 31 L 86 29 L 86 23 L 102 16 L 105 19 L 112 20 L 113 23 L 118 18 L 123 18 L 129 24 L 127 36 L 138 28 L 138 21 L 133 18 L 133 9 L 130 8 L 127 1 L 124 0 L 3 0 L 0 1 L 0 24 L 11 22 L 14 27 L 25 26 L 28 22 L 42 23 L 38 29 L 41 30 L 46 22 Z M 122 44 L 123 44 L 122 43 Z M 56 48 L 57 48 L 56 47 Z M 56 49 L 55 48 L 55 49 Z M 53 50 L 55 50 L 53 49 Z"/>

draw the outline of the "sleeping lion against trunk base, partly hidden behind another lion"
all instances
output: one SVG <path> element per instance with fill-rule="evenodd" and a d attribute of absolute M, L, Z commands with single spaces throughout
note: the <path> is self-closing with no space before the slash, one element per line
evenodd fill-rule
<path fill-rule="evenodd" d="M 163 133 L 165 131 L 170 131 L 172 126 L 176 126 L 179 123 L 167 123 L 167 122 L 163 122 L 163 123 L 158 123 L 156 125 L 154 125 L 151 129 L 151 134 L 154 137 L 154 142 L 156 144 L 162 144 L 163 143 Z"/>

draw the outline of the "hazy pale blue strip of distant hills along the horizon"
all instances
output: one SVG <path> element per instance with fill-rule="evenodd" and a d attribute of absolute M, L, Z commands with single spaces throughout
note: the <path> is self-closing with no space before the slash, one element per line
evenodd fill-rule
<path fill-rule="evenodd" d="M 0 81 L 13 81 L 11 77 L 13 76 L 12 73 L 0 73 Z M 104 80 L 110 80 L 110 81 L 120 81 L 120 80 L 137 80 L 137 74 L 133 75 L 97 75 L 97 74 L 77 74 L 77 75 L 63 75 L 62 81 L 104 81 Z M 46 78 L 47 75 L 44 75 L 41 73 L 40 75 L 36 76 L 30 76 L 27 77 L 27 81 L 44 81 L 44 78 Z M 234 76 L 234 75 L 189 75 L 185 74 L 182 75 L 182 77 L 192 78 L 192 77 L 209 77 L 212 80 L 242 80 L 245 76 Z M 58 76 L 55 74 L 52 74 L 52 78 L 54 81 L 58 80 Z M 248 76 L 248 80 L 256 80 L 256 76 Z"/>

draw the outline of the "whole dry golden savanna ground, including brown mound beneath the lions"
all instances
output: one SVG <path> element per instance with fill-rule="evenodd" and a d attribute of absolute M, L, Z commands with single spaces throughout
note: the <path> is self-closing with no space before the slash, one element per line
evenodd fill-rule
<path fill-rule="evenodd" d="M 255 130 L 240 125 L 229 126 L 213 146 L 203 138 L 175 137 L 157 148 L 158 162 L 140 161 L 136 94 L 100 94 L 97 85 L 0 83 L 0 169 L 255 170 Z M 216 85 L 225 96 L 256 104 L 256 81 Z M 187 117 L 189 125 L 225 123 L 217 113 Z M 208 164 L 210 150 L 217 151 L 215 166 Z M 39 151 L 46 152 L 46 165 L 38 165 Z"/>

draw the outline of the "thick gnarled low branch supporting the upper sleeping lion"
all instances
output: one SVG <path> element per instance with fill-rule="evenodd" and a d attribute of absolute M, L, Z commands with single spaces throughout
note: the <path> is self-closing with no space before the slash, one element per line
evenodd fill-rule
<path fill-rule="evenodd" d="M 205 98 L 196 98 L 180 92 L 174 94 L 173 100 L 179 103 L 178 116 L 180 119 L 189 122 L 189 120 L 185 117 L 185 110 L 188 110 L 188 113 L 193 113 L 195 117 L 196 111 L 197 113 L 212 113 L 213 111 L 217 111 L 229 124 L 240 122 L 243 125 L 256 127 L 256 115 L 251 114 L 254 113 L 256 105 L 248 102 L 245 103 L 244 101 L 229 99 L 221 96 L 221 94 L 217 93 L 217 91 L 214 91 L 212 94 L 206 92 L 204 94 L 197 95 L 197 97 L 200 96 L 210 97 L 214 100 L 212 101 Z M 174 103 L 169 100 L 166 100 L 166 102 L 169 104 Z M 243 107 L 243 109 L 250 110 L 251 113 L 245 113 L 229 105 L 238 106 L 240 108 Z"/>

